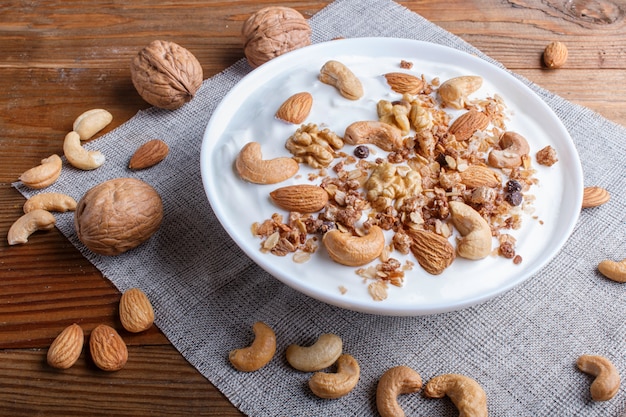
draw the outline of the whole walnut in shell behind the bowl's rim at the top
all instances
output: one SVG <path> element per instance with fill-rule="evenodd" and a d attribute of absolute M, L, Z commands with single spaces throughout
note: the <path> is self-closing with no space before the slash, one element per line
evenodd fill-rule
<path fill-rule="evenodd" d="M 244 53 L 256 68 L 285 52 L 311 44 L 309 22 L 289 7 L 265 7 L 243 24 Z"/>

